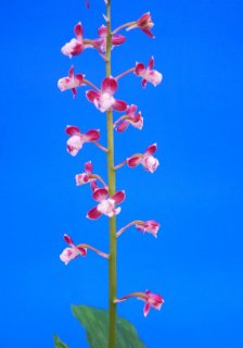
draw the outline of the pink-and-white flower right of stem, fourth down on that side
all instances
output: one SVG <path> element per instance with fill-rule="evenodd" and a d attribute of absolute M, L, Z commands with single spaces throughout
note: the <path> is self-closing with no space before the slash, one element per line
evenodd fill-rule
<path fill-rule="evenodd" d="M 152 154 L 156 151 L 157 145 L 153 144 L 146 148 L 146 151 L 141 154 L 133 154 L 130 158 L 127 159 L 127 165 L 130 167 L 135 167 L 139 164 L 142 164 L 144 170 L 146 170 L 150 173 L 154 173 L 156 171 L 159 162 L 157 159 L 155 159 Z"/>

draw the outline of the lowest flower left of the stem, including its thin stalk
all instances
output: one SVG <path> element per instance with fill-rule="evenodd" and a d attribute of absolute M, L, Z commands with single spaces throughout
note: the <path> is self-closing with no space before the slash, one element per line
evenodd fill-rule
<path fill-rule="evenodd" d="M 87 256 L 87 249 L 91 249 L 95 251 L 100 257 L 108 259 L 108 254 L 105 252 L 102 252 L 98 250 L 97 248 L 93 248 L 92 246 L 88 244 L 79 244 L 75 245 L 73 239 L 68 235 L 64 235 L 64 240 L 66 244 L 68 244 L 69 248 L 65 248 L 62 253 L 60 254 L 60 259 L 66 264 L 69 263 L 71 260 L 77 259 L 78 256 L 86 257 Z"/>

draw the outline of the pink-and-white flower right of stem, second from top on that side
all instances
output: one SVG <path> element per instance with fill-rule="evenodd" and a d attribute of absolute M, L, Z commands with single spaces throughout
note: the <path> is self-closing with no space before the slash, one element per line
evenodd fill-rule
<path fill-rule="evenodd" d="M 137 76 L 142 77 L 142 86 L 145 87 L 146 83 L 151 83 L 156 87 L 162 82 L 162 74 L 156 70 L 153 70 L 154 66 L 154 58 L 151 57 L 148 67 L 143 63 L 136 63 L 135 74 Z"/>

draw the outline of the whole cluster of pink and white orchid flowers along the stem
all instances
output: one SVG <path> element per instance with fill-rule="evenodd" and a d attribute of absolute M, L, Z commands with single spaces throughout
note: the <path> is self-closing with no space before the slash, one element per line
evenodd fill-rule
<path fill-rule="evenodd" d="M 86 0 L 86 4 L 89 8 L 88 0 Z M 146 12 L 137 21 L 123 24 L 114 30 L 111 30 L 108 24 L 101 25 L 98 28 L 99 37 L 90 39 L 84 37 L 84 27 L 81 23 L 78 22 L 74 26 L 75 37 L 62 47 L 61 52 L 69 59 L 73 59 L 81 54 L 86 49 L 93 49 L 97 50 L 101 58 L 105 61 L 105 63 L 108 64 L 107 51 L 111 52 L 111 49 L 118 47 L 126 41 L 126 37 L 124 35 L 117 34 L 119 30 L 122 30 L 123 28 L 126 28 L 127 30 L 138 28 L 145 33 L 150 38 L 154 38 L 154 35 L 151 30 L 153 26 L 154 23 L 152 22 L 151 14 L 150 12 Z M 108 37 L 111 38 L 111 40 L 107 39 Z M 143 128 L 143 116 L 141 111 L 138 111 L 138 105 L 117 99 L 115 95 L 118 90 L 118 79 L 129 73 L 132 73 L 133 76 L 141 77 L 142 87 L 145 87 L 148 83 L 152 84 L 154 87 L 159 85 L 162 83 L 163 76 L 153 67 L 154 58 L 151 57 L 148 66 L 145 66 L 141 62 L 137 62 L 129 70 L 120 73 L 116 77 L 107 74 L 105 77 L 103 77 L 100 87 L 98 87 L 91 80 L 87 79 L 85 74 L 75 74 L 74 65 L 72 65 L 68 71 L 68 75 L 59 79 L 57 87 L 61 91 L 69 89 L 74 98 L 76 98 L 77 88 L 86 88 L 87 86 L 89 86 L 91 87 L 91 89 L 86 90 L 86 98 L 89 102 L 93 103 L 98 111 L 100 111 L 101 113 L 106 112 L 107 115 L 113 115 L 113 111 L 122 113 L 122 115 L 119 115 L 114 123 L 112 117 L 112 123 L 108 123 L 108 132 L 111 132 L 111 129 L 113 128 L 118 133 L 123 133 L 127 130 L 129 126 L 141 130 Z M 68 135 L 66 149 L 67 152 L 73 157 L 77 156 L 77 153 L 82 149 L 85 142 L 91 142 L 95 145 L 104 152 L 107 152 L 107 156 L 111 151 L 113 151 L 114 145 L 111 145 L 111 141 L 108 142 L 107 148 L 98 142 L 98 140 L 100 140 L 100 129 L 90 129 L 86 133 L 81 133 L 78 126 L 67 125 L 65 132 Z M 115 171 L 125 164 L 127 164 L 128 167 L 136 167 L 141 164 L 145 171 L 154 173 L 159 164 L 158 160 L 153 156 L 156 149 L 156 144 L 150 145 L 143 153 L 135 153 L 128 157 L 118 165 L 114 165 L 113 159 L 111 160 L 111 158 L 108 157 L 110 175 L 113 175 L 114 177 Z M 91 196 L 93 200 L 97 201 L 97 206 L 88 211 L 88 219 L 98 220 L 102 215 L 105 215 L 108 219 L 115 219 L 115 216 L 120 213 L 122 208 L 117 206 L 126 199 L 125 191 L 116 191 L 114 185 L 111 187 L 111 181 L 107 185 L 99 174 L 93 173 L 93 165 L 91 161 L 85 163 L 85 172 L 76 174 L 75 182 L 77 186 L 90 184 Z M 143 234 L 148 233 L 155 238 L 157 237 L 159 223 L 155 220 L 135 220 L 128 223 L 126 226 L 122 227 L 118 232 L 113 231 L 112 233 L 115 233 L 118 238 L 128 227 L 132 225 L 135 225 L 136 228 Z M 79 256 L 86 257 L 88 249 L 93 250 L 99 256 L 105 259 L 110 258 L 110 254 L 100 251 L 87 244 L 75 245 L 73 239 L 66 234 L 64 235 L 64 240 L 68 245 L 68 247 L 66 247 L 62 251 L 62 253 L 60 254 L 60 259 L 65 264 L 68 264 L 69 261 L 77 259 Z M 145 302 L 143 308 L 144 316 L 148 315 L 150 308 L 159 310 L 164 302 L 164 299 L 161 295 L 153 294 L 150 290 L 146 290 L 144 293 L 132 293 L 120 298 L 114 298 L 114 303 L 122 302 L 132 297 L 141 299 Z"/>

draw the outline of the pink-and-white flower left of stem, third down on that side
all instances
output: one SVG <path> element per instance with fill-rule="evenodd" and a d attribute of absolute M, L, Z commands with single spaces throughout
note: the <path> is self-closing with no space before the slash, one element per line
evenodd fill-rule
<path fill-rule="evenodd" d="M 72 156 L 76 156 L 85 142 L 92 142 L 100 138 L 100 129 L 91 129 L 86 134 L 81 134 L 77 126 L 68 125 L 65 132 L 71 136 L 66 142 L 66 149 Z"/>

